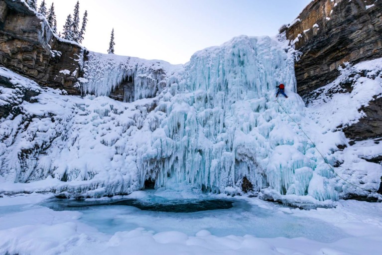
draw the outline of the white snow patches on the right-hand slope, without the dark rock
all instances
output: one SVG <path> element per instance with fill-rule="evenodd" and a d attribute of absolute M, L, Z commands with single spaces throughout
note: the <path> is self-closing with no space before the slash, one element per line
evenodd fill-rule
<path fill-rule="evenodd" d="M 313 92 L 314 98 L 307 108 L 308 117 L 320 126 L 321 132 L 330 132 L 346 128 L 357 123 L 365 113 L 363 107 L 382 97 L 382 59 L 365 61 L 357 65 L 345 64 L 340 68 L 341 75 L 332 83 Z M 382 155 L 382 144 L 379 138 L 356 141 L 350 146 L 349 141 L 343 150 L 328 155 L 337 161 L 336 172 L 345 180 L 357 186 L 378 188 L 382 166 L 366 159 Z M 324 151 L 326 148 L 322 148 Z M 363 194 L 368 192 L 339 180 L 337 190 L 346 194 Z"/>

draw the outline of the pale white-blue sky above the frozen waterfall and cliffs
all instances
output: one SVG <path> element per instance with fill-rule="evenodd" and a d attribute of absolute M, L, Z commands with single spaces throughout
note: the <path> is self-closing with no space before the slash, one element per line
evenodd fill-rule
<path fill-rule="evenodd" d="M 276 35 L 311 0 L 80 0 L 88 10 L 83 45 L 107 53 L 115 31 L 115 54 L 184 64 L 204 48 L 238 35 Z M 38 0 L 38 6 L 41 0 Z M 52 0 L 45 0 L 48 7 Z M 53 0 L 58 31 L 77 0 Z"/>

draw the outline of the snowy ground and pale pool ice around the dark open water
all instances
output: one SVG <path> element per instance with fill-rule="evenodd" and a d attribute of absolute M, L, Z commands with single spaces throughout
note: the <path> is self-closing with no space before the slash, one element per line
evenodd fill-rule
<path fill-rule="evenodd" d="M 381 203 L 340 200 L 336 208 L 306 211 L 235 197 L 238 208 L 182 216 L 121 206 L 53 211 L 41 205 L 52 197 L 0 198 L 0 254 L 379 255 L 382 249 Z"/>

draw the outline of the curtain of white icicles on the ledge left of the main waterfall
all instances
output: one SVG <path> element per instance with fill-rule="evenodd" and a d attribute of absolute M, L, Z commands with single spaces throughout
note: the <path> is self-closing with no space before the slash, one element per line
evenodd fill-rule
<path fill-rule="evenodd" d="M 114 54 L 90 52 L 87 57 L 80 80 L 82 93 L 114 96 L 124 102 L 157 96 L 166 86 L 166 74 L 176 68 L 165 61 Z"/>

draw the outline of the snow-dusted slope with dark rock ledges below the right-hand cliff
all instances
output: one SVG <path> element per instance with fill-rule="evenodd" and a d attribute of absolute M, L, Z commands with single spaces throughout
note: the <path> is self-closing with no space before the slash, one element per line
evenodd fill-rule
<path fill-rule="evenodd" d="M 368 195 L 378 187 L 382 165 L 382 59 L 345 64 L 332 83 L 307 96 L 308 116 L 324 130 L 344 131 L 347 139 L 332 158 L 343 178 L 336 187 L 342 197 Z M 351 146 L 352 145 L 352 146 Z M 346 181 L 355 184 L 350 185 Z M 362 187 L 366 190 L 363 190 Z M 374 194 L 376 196 L 376 194 Z"/>

